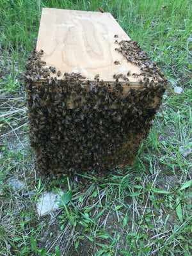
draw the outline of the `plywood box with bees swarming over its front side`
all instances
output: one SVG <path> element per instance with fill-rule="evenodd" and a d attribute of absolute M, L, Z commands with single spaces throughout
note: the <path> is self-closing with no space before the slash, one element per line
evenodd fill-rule
<path fill-rule="evenodd" d="M 50 8 L 24 77 L 44 173 L 132 164 L 167 84 L 110 13 Z"/>

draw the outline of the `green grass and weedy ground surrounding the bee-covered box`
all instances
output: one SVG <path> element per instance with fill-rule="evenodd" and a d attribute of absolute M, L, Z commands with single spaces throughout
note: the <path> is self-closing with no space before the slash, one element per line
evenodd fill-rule
<path fill-rule="evenodd" d="M 136 164 L 82 193 L 66 179 L 45 186 L 29 147 L 22 72 L 42 7 L 110 12 L 169 81 Z M 0 12 L 0 254 L 191 255 L 192 2 L 2 0 Z M 12 178 L 24 189 L 10 186 Z M 60 210 L 38 216 L 38 196 L 60 193 L 63 183 Z"/>

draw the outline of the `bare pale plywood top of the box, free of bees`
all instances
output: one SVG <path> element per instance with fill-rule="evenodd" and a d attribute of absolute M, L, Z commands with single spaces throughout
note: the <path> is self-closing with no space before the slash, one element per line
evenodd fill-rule
<path fill-rule="evenodd" d="M 47 67 L 54 66 L 62 73 L 81 72 L 90 81 L 96 74 L 109 82 L 115 81 L 114 74 L 139 74 L 139 67 L 115 51 L 119 47 L 115 40 L 130 38 L 110 13 L 43 8 L 36 50 L 44 50 L 42 60 Z M 136 77 L 129 80 L 131 86 L 139 86 Z"/>

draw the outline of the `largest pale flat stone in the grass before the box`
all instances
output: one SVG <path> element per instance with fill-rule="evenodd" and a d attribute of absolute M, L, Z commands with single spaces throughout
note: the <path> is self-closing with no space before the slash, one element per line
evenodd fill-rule
<path fill-rule="evenodd" d="M 63 191 L 60 191 L 60 195 L 63 195 Z M 44 192 L 38 199 L 40 201 L 36 204 L 36 210 L 39 216 L 49 214 L 49 212 L 59 208 L 58 202 L 56 202 L 60 201 L 60 196 L 58 194 Z"/>

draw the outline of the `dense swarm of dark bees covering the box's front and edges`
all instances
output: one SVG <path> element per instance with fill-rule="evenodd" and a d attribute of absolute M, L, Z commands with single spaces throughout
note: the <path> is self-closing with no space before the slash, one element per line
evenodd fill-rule
<path fill-rule="evenodd" d="M 141 87 L 125 95 L 120 76 L 106 83 L 80 73 L 61 73 L 45 67 L 44 51 L 33 50 L 24 72 L 28 100 L 31 147 L 36 168 L 45 174 L 90 170 L 105 173 L 108 168 L 131 164 L 145 141 L 154 115 L 161 105 L 166 79 L 146 53 L 132 41 L 121 41 L 115 51 L 138 65 Z M 124 77 L 122 76 L 122 77 Z M 142 78 L 140 78 L 142 77 Z M 154 97 L 158 97 L 154 104 Z"/>

